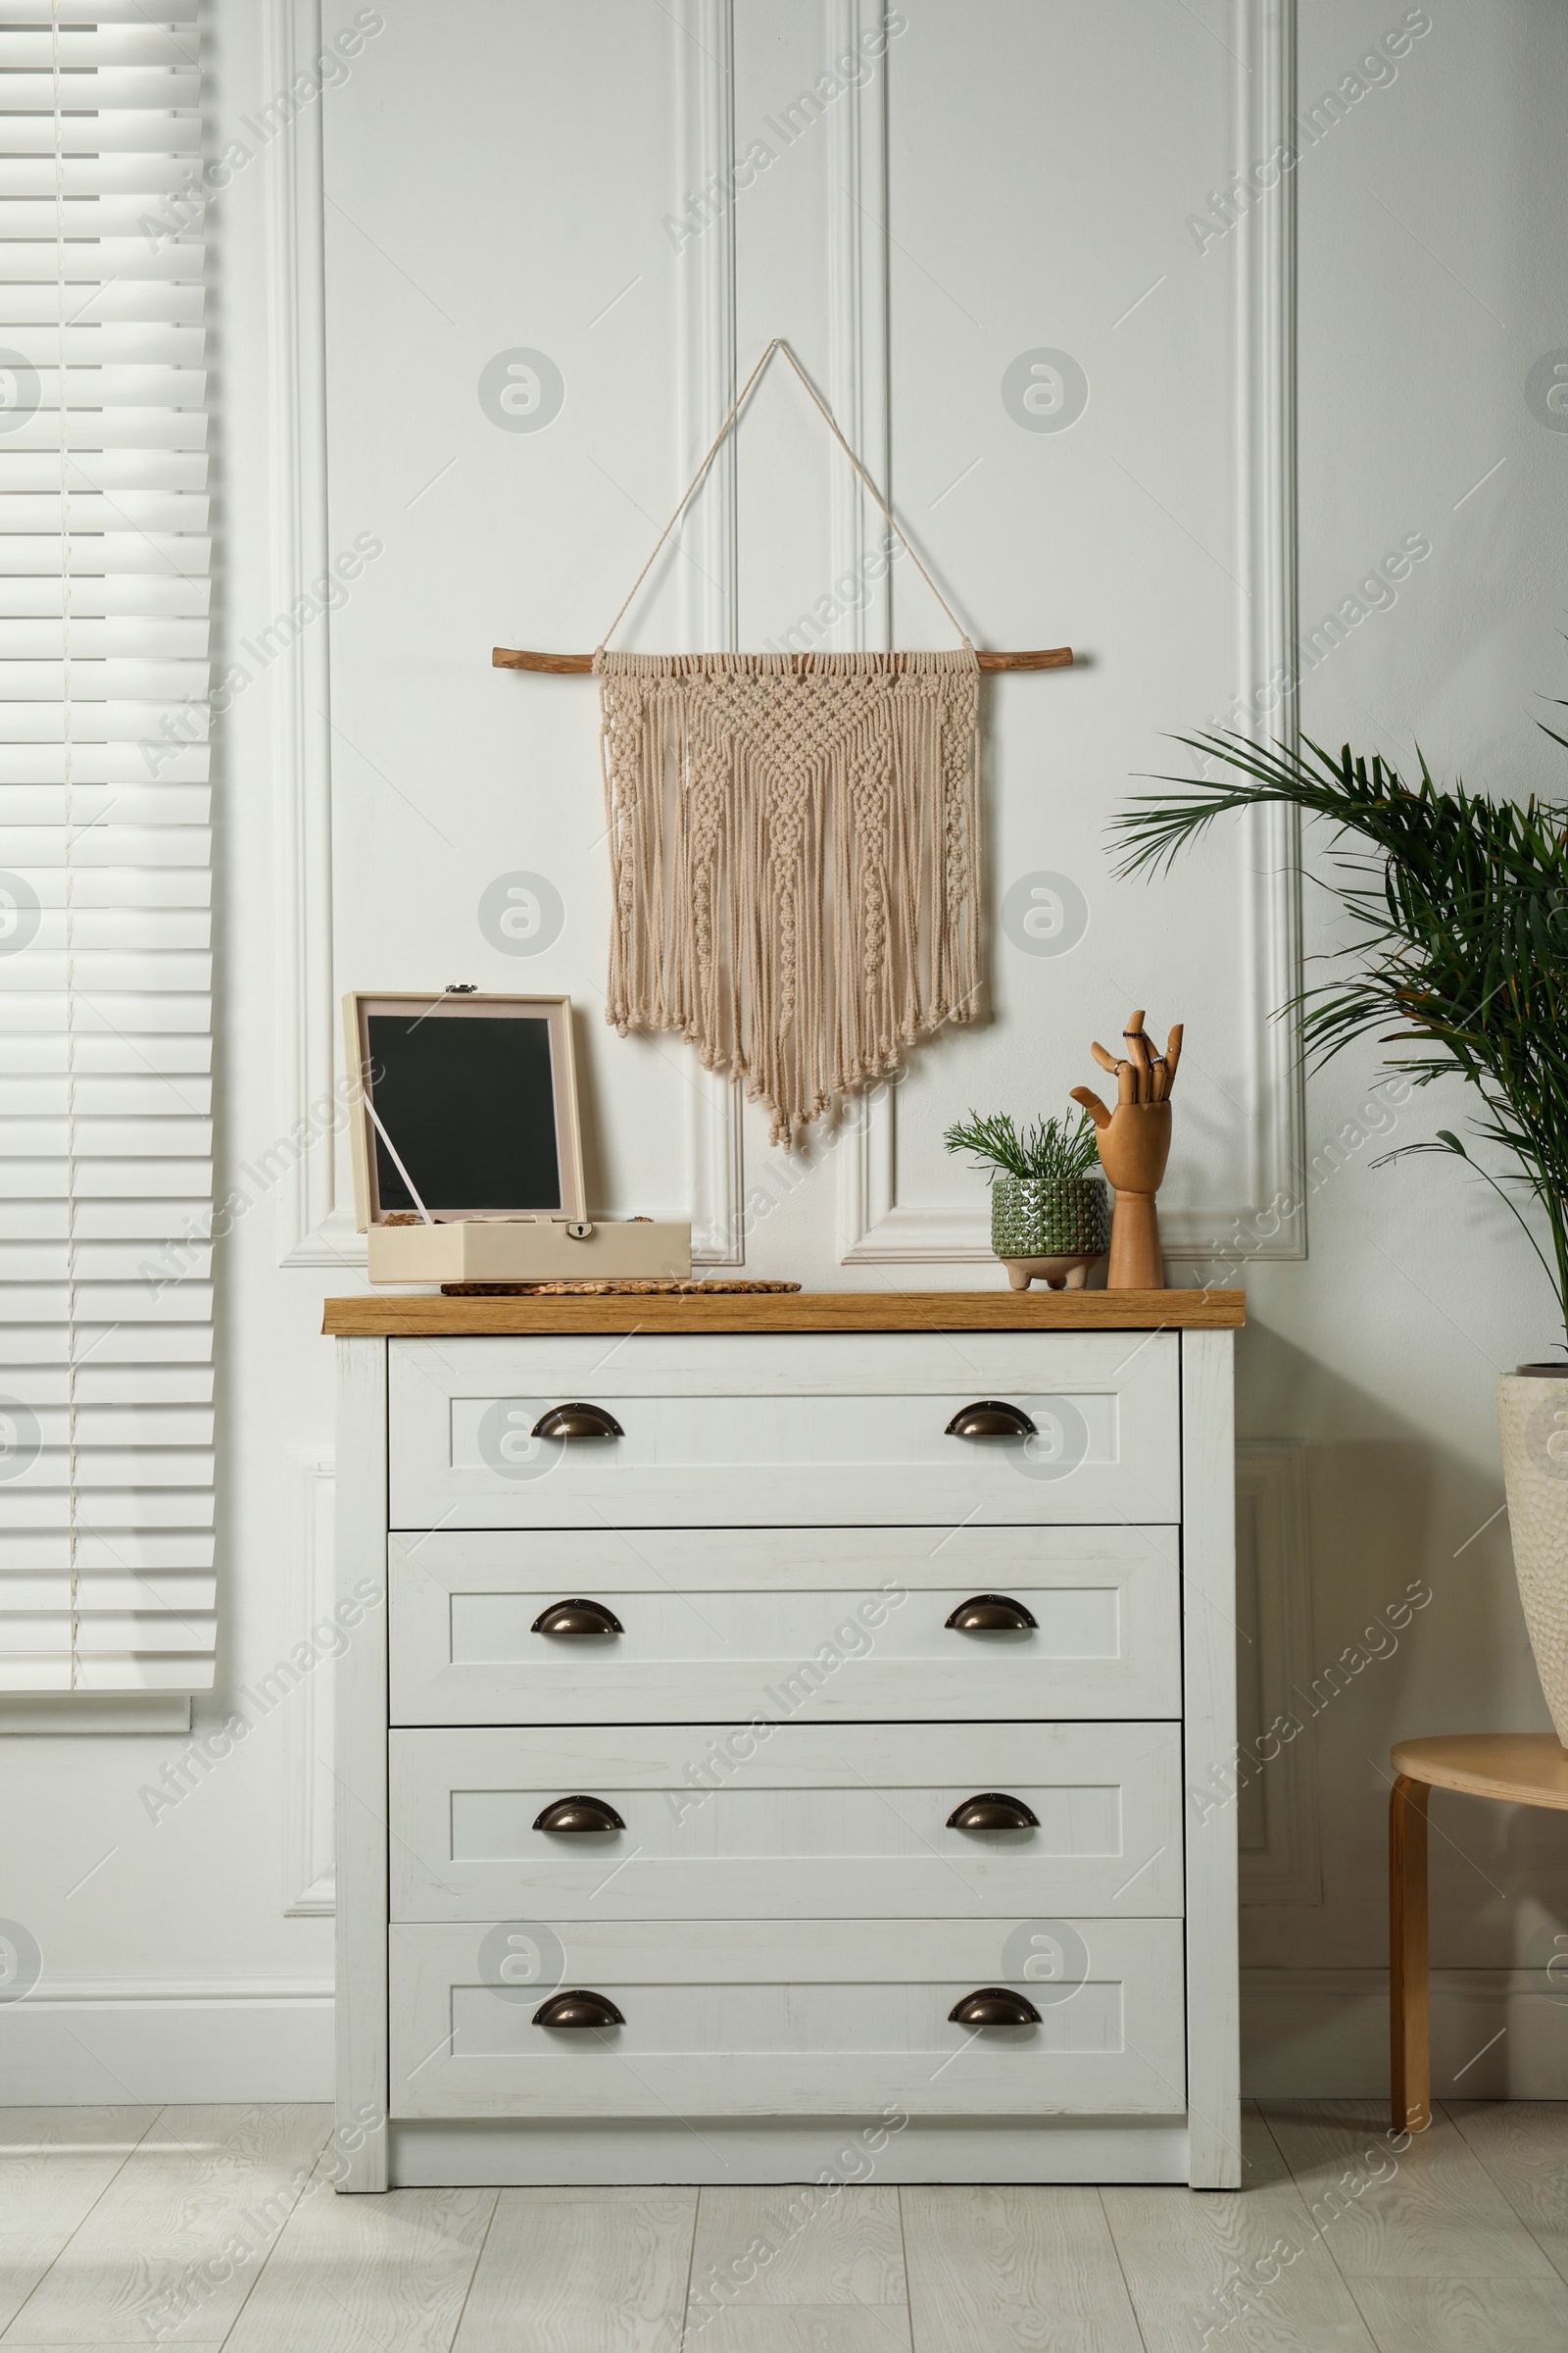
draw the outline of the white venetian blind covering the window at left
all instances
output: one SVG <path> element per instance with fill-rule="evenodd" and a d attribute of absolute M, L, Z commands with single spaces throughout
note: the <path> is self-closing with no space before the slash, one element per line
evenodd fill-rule
<path fill-rule="evenodd" d="M 0 0 L 0 1692 L 212 1685 L 200 148 L 195 0 Z"/>

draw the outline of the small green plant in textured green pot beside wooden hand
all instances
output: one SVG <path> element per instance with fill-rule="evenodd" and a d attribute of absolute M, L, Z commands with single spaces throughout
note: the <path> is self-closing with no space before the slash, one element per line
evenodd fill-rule
<path fill-rule="evenodd" d="M 943 1144 L 992 1172 L 992 1249 L 1013 1289 L 1027 1289 L 1034 1275 L 1051 1289 L 1081 1289 L 1110 1249 L 1110 1195 L 1091 1174 L 1093 1120 L 1081 1113 L 1020 1129 L 1009 1111 L 971 1111 Z"/>

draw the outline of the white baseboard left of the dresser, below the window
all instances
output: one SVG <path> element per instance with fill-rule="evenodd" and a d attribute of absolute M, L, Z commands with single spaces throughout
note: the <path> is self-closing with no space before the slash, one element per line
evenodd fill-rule
<path fill-rule="evenodd" d="M 5 2106 L 331 2099 L 331 1984 L 49 1986 L 0 2007 Z"/>

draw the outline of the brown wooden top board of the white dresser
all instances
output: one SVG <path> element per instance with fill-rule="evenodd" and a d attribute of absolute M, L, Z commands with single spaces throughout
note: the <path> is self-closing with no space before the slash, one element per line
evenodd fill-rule
<path fill-rule="evenodd" d="M 555 1292 L 327 1299 L 336 1339 L 508 1332 L 1234 1332 L 1246 1292 Z"/>

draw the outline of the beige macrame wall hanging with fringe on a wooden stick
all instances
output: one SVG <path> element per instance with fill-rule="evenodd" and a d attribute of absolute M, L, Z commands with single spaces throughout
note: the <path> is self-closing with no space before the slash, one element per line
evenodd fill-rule
<path fill-rule="evenodd" d="M 628 605 L 773 358 L 959 633 L 950 654 L 510 654 L 503 668 L 599 680 L 614 880 L 607 1019 L 677 1031 L 766 1106 L 790 1148 L 914 1040 L 973 1021 L 980 995 L 980 668 L 788 344 L 773 339 L 632 581 Z"/>

